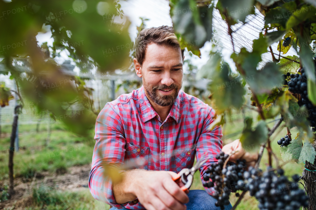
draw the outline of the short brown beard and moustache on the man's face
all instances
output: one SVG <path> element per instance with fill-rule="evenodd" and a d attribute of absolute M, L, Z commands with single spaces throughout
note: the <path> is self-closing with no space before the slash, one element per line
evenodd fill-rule
<path fill-rule="evenodd" d="M 145 81 L 145 78 L 143 78 L 143 85 L 144 85 L 144 89 L 146 90 L 149 98 L 153 102 L 155 102 L 159 106 L 166 107 L 166 106 L 173 105 L 174 102 L 176 101 L 179 90 L 182 87 L 182 82 L 181 82 L 181 85 L 176 85 L 173 83 L 170 86 L 167 86 L 167 85 L 148 85 Z M 171 93 L 170 95 L 162 95 L 158 92 L 158 90 L 163 90 L 163 89 L 171 89 L 171 90 L 173 90 L 173 93 Z"/>

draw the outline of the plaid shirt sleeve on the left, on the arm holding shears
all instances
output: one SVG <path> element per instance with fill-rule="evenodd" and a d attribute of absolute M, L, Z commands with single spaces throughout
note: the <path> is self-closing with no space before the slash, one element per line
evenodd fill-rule
<path fill-rule="evenodd" d="M 125 157 L 125 134 L 121 118 L 113 105 L 107 103 L 99 113 L 95 124 L 95 146 L 89 176 L 92 196 L 118 209 L 126 204 L 118 204 L 113 195 L 112 181 L 104 175 L 103 164 L 122 164 Z M 102 155 L 102 157 L 100 157 Z"/>

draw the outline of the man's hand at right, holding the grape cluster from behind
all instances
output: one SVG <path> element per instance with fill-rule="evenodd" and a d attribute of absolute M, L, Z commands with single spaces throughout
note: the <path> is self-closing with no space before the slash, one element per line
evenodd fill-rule
<path fill-rule="evenodd" d="M 236 139 L 232 143 L 229 143 L 223 146 L 222 151 L 225 154 L 230 154 L 231 152 L 235 151 L 235 153 L 232 156 L 230 156 L 229 160 L 236 161 L 237 159 L 245 159 L 246 164 L 248 166 L 251 166 L 251 165 L 254 166 L 258 159 L 258 154 L 256 153 L 251 154 L 249 152 L 246 152 L 244 148 L 242 148 L 242 145 L 239 139 Z"/>

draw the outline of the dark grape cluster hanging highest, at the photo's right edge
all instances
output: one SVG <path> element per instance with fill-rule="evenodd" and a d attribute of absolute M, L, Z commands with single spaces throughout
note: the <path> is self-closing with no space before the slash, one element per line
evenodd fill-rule
<path fill-rule="evenodd" d="M 307 94 L 307 75 L 304 68 L 300 70 L 301 74 L 283 74 L 283 84 L 289 86 L 289 91 L 292 93 L 300 94 L 298 104 L 305 106 L 308 110 L 308 120 L 311 127 L 316 126 L 316 107 L 308 99 Z"/>

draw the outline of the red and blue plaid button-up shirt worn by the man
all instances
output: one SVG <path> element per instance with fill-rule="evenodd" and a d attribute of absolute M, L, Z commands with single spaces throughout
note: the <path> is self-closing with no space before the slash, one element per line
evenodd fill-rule
<path fill-rule="evenodd" d="M 162 122 L 149 103 L 144 88 L 123 94 L 106 103 L 95 124 L 96 140 L 89 189 L 93 197 L 117 208 L 145 209 L 140 203 L 118 204 L 113 195 L 112 182 L 103 177 L 102 162 L 123 164 L 140 158 L 146 170 L 178 173 L 191 168 L 206 153 L 208 160 L 200 167 L 201 179 L 215 156 L 222 149 L 222 130 L 208 127 L 215 111 L 198 98 L 180 90 L 167 119 Z M 99 156 L 99 151 L 104 157 Z M 214 188 L 205 188 L 212 195 Z"/>

